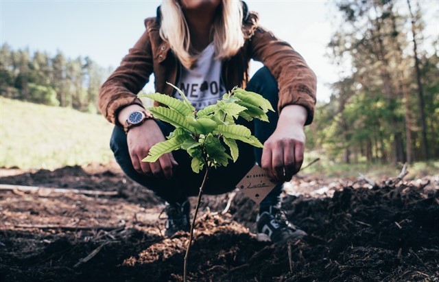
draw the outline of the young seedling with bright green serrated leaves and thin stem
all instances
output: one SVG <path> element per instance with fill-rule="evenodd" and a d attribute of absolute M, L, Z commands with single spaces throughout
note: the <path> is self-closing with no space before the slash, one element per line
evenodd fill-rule
<path fill-rule="evenodd" d="M 237 141 L 242 141 L 263 148 L 259 140 L 252 135 L 246 126 L 235 124 L 238 117 L 248 121 L 261 119 L 268 121 L 268 110 L 274 111 L 270 102 L 261 95 L 235 87 L 223 95 L 217 104 L 206 106 L 198 112 L 191 105 L 185 94 L 173 84 L 174 89 L 180 93 L 182 100 L 161 93 L 140 94 L 139 97 L 153 99 L 165 106 L 147 108 L 154 118 L 165 121 L 175 126 L 166 141 L 152 146 L 146 158 L 142 161 L 152 162 L 158 160 L 163 154 L 174 150 L 186 150 L 191 156 L 193 172 L 200 173 L 204 169 L 204 178 L 198 193 L 198 201 L 191 222 L 189 243 L 187 245 L 183 279 L 187 281 L 187 260 L 193 239 L 193 229 L 197 218 L 198 209 L 202 198 L 204 185 L 209 176 L 209 170 L 219 166 L 226 167 L 228 160 L 237 161 L 239 156 Z M 226 153 L 226 144 L 230 155 Z"/>

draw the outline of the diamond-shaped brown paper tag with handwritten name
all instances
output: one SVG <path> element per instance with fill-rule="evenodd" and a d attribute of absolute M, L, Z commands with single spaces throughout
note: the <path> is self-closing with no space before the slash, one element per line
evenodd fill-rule
<path fill-rule="evenodd" d="M 254 165 L 236 187 L 259 204 L 276 187 L 276 183 L 270 181 L 261 167 Z"/>

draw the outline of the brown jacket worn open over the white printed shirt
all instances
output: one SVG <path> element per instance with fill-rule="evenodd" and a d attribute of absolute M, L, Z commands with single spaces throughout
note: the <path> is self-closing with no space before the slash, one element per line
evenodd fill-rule
<path fill-rule="evenodd" d="M 246 42 L 235 56 L 222 63 L 222 80 L 227 90 L 234 86 L 246 86 L 250 59 L 263 62 L 278 82 L 278 113 L 286 105 L 298 104 L 307 108 L 306 124 L 311 124 L 316 104 L 316 75 L 288 43 L 278 40 L 257 21 L 257 14 L 246 12 L 244 4 Z M 173 93 L 174 89 L 166 82 L 176 84 L 181 64 L 169 49 L 169 44 L 159 35 L 160 12 L 156 17 L 146 19 L 145 27 L 141 38 L 99 91 L 99 110 L 112 124 L 119 125 L 117 115 L 123 107 L 130 104 L 142 106 L 136 94 L 143 89 L 152 73 L 156 92 Z"/>

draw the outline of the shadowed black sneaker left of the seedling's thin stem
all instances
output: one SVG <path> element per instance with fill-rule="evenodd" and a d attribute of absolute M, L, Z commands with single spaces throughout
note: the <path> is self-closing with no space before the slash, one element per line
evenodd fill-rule
<path fill-rule="evenodd" d="M 171 237 L 178 231 L 191 230 L 191 224 L 189 223 L 189 209 L 190 204 L 188 200 L 182 204 L 169 204 L 165 208 L 165 213 L 167 214 L 165 236 Z"/>

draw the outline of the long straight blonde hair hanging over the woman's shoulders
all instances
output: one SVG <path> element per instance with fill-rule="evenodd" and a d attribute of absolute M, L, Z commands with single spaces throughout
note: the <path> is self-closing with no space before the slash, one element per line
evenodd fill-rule
<path fill-rule="evenodd" d="M 215 17 L 212 27 L 217 60 L 234 56 L 244 46 L 241 1 L 222 0 L 221 9 L 221 14 Z M 189 27 L 182 8 L 176 0 L 163 0 L 160 36 L 169 42 L 169 46 L 183 66 L 191 69 L 198 59 L 198 54 L 191 49 Z"/>

